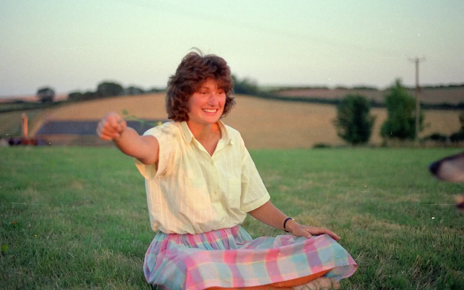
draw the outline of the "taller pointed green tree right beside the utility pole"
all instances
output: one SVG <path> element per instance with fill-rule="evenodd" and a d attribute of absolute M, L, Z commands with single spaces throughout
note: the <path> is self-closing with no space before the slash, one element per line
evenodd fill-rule
<path fill-rule="evenodd" d="M 380 129 L 383 138 L 415 139 L 416 137 L 416 100 L 407 93 L 406 88 L 397 79 L 390 93 L 385 96 L 387 120 Z M 424 129 L 424 113 L 419 111 L 419 131 Z"/>

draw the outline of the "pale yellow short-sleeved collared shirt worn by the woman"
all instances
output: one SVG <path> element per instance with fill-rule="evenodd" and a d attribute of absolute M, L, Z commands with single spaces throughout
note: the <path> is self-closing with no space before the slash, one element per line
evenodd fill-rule
<path fill-rule="evenodd" d="M 135 159 L 145 177 L 153 231 L 196 234 L 234 227 L 269 201 L 240 133 L 218 124 L 221 139 L 212 156 L 186 122 L 164 123 L 144 133 L 160 144 L 156 164 Z"/>

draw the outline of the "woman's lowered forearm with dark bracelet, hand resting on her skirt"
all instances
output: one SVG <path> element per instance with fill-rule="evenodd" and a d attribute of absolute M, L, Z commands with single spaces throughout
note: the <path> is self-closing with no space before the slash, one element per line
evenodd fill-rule
<path fill-rule="evenodd" d="M 287 216 L 269 201 L 248 213 L 258 221 L 261 221 L 268 226 L 284 230 L 284 221 Z M 312 235 L 327 233 L 334 240 L 340 240 L 339 236 L 326 228 L 300 225 L 294 220 L 287 221 L 285 228 L 296 237 L 305 237 L 309 239 Z"/>

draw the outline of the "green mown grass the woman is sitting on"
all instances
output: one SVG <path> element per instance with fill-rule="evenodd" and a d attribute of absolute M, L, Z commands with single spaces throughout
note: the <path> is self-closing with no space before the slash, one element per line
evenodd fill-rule
<path fill-rule="evenodd" d="M 464 289 L 462 185 L 427 171 L 456 149 L 263 150 L 271 200 L 342 237 L 342 289 Z M 142 176 L 115 148 L 0 148 L 0 289 L 150 289 Z M 27 203 L 27 204 L 23 204 Z M 16 221 L 16 222 L 13 222 Z M 12 223 L 13 222 L 13 223 Z M 251 217 L 252 236 L 283 232 Z"/>

